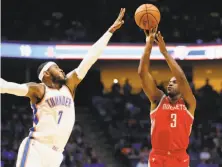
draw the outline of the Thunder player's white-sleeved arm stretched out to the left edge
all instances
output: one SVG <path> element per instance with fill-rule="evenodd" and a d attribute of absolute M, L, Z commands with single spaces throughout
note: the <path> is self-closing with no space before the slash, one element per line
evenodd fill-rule
<path fill-rule="evenodd" d="M 16 96 L 29 97 L 32 102 L 36 102 L 38 99 L 42 99 L 44 95 L 44 86 L 37 83 L 25 83 L 18 84 L 15 82 L 8 82 L 4 79 L 0 79 L 0 93 L 1 94 L 11 94 Z"/>

